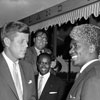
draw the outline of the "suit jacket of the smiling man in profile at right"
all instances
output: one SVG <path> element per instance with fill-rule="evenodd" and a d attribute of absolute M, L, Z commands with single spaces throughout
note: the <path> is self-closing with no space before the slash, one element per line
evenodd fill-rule
<path fill-rule="evenodd" d="M 66 100 L 100 99 L 100 61 L 95 61 L 79 75 Z"/>

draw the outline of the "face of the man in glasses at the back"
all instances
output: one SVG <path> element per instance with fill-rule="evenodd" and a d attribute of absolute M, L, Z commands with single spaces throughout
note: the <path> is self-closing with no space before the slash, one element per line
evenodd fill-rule
<path fill-rule="evenodd" d="M 38 34 L 38 36 L 34 40 L 35 46 L 39 49 L 42 50 L 45 48 L 47 45 L 47 36 L 46 34 Z"/>

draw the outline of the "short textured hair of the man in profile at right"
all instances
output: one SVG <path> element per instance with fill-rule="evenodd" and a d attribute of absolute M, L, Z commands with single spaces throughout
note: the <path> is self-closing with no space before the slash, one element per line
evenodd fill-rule
<path fill-rule="evenodd" d="M 92 24 L 82 24 L 75 26 L 70 37 L 75 40 L 79 40 L 88 44 L 93 44 L 97 52 L 100 50 L 100 28 Z"/>

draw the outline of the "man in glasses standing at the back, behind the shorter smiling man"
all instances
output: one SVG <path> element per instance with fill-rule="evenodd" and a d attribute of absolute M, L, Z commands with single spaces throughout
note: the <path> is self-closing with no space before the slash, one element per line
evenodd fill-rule
<path fill-rule="evenodd" d="M 37 56 L 41 52 L 51 53 L 51 50 L 46 48 L 48 39 L 47 39 L 46 32 L 43 30 L 36 31 L 33 37 L 33 42 L 34 45 L 27 49 L 24 59 L 33 65 L 34 73 L 38 74 L 37 67 L 36 67 Z"/>

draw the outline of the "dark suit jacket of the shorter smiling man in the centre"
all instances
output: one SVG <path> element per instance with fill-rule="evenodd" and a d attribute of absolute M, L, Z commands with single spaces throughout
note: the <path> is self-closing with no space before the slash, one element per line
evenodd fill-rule
<path fill-rule="evenodd" d="M 36 75 L 36 83 L 38 83 L 38 75 Z M 64 100 L 65 86 L 65 82 L 50 74 L 39 100 Z"/>

